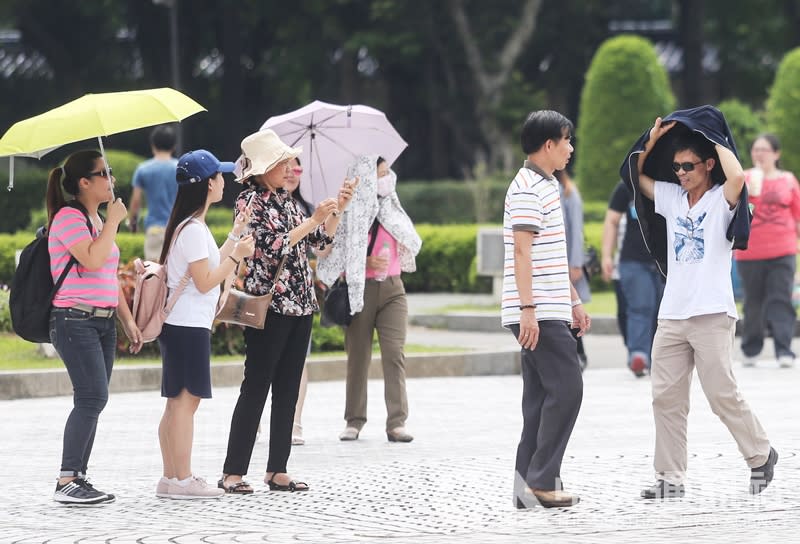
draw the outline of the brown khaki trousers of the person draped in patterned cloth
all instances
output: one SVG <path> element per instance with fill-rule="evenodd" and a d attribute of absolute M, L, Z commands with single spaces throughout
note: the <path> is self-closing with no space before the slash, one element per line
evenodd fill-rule
<path fill-rule="evenodd" d="M 345 329 L 347 350 L 347 394 L 344 418 L 349 427 L 361 429 L 367 422 L 367 379 L 372 361 L 372 335 L 378 331 L 383 366 L 383 394 L 386 401 L 386 430 L 405 425 L 408 418 L 406 397 L 406 343 L 408 302 L 399 276 L 382 282 L 367 280 L 364 309 Z"/>

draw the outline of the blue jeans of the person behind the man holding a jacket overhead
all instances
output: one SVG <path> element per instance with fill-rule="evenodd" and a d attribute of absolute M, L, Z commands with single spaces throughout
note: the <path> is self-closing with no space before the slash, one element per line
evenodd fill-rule
<path fill-rule="evenodd" d="M 625 294 L 627 310 L 625 345 L 628 361 L 640 354 L 649 368 L 664 279 L 655 263 L 620 261 L 619 283 Z"/>

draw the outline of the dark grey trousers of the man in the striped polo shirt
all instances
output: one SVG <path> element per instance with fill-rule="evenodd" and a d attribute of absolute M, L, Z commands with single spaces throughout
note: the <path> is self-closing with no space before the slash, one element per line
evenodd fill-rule
<path fill-rule="evenodd" d="M 511 325 L 519 337 L 519 325 Z M 522 350 L 522 437 L 515 493 L 561 489 L 561 461 L 583 400 L 575 338 L 566 322 L 540 321 L 539 342 Z"/>

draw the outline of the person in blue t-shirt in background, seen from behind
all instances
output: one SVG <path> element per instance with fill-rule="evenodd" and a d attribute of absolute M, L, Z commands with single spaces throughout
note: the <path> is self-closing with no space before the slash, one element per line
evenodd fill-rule
<path fill-rule="evenodd" d="M 147 217 L 144 219 L 144 258 L 155 261 L 164 245 L 164 229 L 167 226 L 178 186 L 175 184 L 177 161 L 175 152 L 175 129 L 170 125 L 159 125 L 150 133 L 150 149 L 153 158 L 140 164 L 133 173 L 133 194 L 128 228 L 136 232 L 139 227 L 139 209 L 142 196 L 147 201 Z"/>

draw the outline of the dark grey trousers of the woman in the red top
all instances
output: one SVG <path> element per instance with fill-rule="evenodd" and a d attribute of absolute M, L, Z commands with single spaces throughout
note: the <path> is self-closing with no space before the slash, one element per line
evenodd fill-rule
<path fill-rule="evenodd" d="M 744 288 L 744 322 L 742 351 L 748 357 L 761 353 L 764 330 L 772 332 L 775 357 L 792 352 L 792 336 L 796 319 L 792 306 L 794 289 L 794 255 L 759 261 L 737 261 Z"/>

